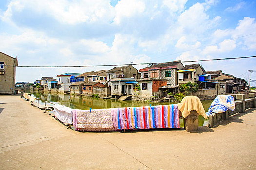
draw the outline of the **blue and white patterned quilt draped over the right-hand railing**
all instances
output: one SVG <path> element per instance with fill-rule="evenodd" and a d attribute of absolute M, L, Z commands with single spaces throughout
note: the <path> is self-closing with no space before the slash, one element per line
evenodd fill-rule
<path fill-rule="evenodd" d="M 216 113 L 223 113 L 227 110 L 235 110 L 234 97 L 230 95 L 218 95 L 209 107 L 207 116 L 214 116 Z"/>

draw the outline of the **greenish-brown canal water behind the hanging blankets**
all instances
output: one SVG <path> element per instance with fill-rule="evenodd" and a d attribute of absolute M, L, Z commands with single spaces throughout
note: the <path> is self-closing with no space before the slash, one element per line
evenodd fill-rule
<path fill-rule="evenodd" d="M 144 101 L 119 101 L 117 99 L 102 99 L 87 96 L 76 96 L 70 94 L 50 94 L 50 93 L 31 93 L 33 96 L 39 98 L 39 104 L 44 105 L 44 101 L 58 103 L 70 107 L 72 109 L 106 109 L 106 108 L 120 108 L 120 107 L 139 107 L 151 105 L 165 105 L 165 104 L 176 104 L 175 102 L 144 102 Z M 212 101 L 201 101 L 205 111 L 208 111 Z M 208 125 L 208 120 L 199 116 L 199 126 Z M 183 119 L 180 119 L 180 126 L 184 127 Z"/>

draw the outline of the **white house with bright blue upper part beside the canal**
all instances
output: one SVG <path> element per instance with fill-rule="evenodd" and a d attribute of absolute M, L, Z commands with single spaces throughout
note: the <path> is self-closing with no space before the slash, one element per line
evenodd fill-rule
<path fill-rule="evenodd" d="M 58 79 L 58 92 L 59 93 L 67 93 L 70 92 L 70 85 L 72 82 L 76 82 L 77 76 L 79 76 L 79 73 L 65 73 L 57 75 Z"/>

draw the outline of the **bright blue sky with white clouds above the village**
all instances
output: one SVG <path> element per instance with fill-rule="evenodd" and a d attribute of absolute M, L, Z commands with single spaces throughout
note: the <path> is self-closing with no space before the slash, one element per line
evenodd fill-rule
<path fill-rule="evenodd" d="M 256 0 L 0 0 L 0 51 L 20 66 L 254 56 Z M 245 79 L 256 70 L 256 58 L 200 64 Z M 16 81 L 111 68 L 17 68 Z"/>

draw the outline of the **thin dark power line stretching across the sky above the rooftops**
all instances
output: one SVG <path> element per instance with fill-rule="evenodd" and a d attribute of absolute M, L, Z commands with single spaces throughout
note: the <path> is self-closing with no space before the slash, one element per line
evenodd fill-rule
<path fill-rule="evenodd" d="M 256 56 L 247 56 L 247 57 L 233 57 L 233 58 L 218 58 L 218 59 L 205 59 L 205 60 L 194 60 L 194 61 L 181 61 L 182 63 L 189 62 L 199 62 L 199 61 L 217 61 L 217 60 L 234 60 L 234 59 L 244 59 L 244 58 L 254 58 Z M 158 63 L 135 63 L 132 65 L 145 65 L 145 64 L 160 64 Z M 82 66 L 12 66 L 12 67 L 27 67 L 27 68 L 70 68 L 70 67 L 102 67 L 102 66 L 124 66 L 130 64 L 108 64 L 108 65 L 82 65 Z M 10 65 L 11 66 L 11 65 Z"/>

